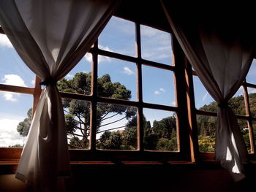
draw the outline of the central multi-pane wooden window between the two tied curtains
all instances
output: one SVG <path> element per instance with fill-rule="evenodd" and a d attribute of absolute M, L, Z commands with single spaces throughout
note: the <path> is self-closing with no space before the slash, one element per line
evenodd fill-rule
<path fill-rule="evenodd" d="M 133 160 L 165 153 L 172 160 L 179 153 L 185 160 L 189 147 L 180 145 L 187 139 L 180 132 L 186 115 L 180 112 L 187 108 L 176 99 L 176 76 L 183 71 L 173 63 L 172 45 L 170 33 L 111 18 L 89 53 L 58 83 L 74 161 L 75 154 L 90 151 L 128 153 Z"/>

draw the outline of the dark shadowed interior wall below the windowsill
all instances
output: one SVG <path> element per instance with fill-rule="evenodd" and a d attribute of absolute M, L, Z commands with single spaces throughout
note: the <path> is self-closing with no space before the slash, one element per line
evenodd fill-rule
<path fill-rule="evenodd" d="M 249 191 L 254 169 L 234 183 L 219 166 L 187 165 L 72 165 L 67 191 Z M 252 183 L 251 183 L 252 184 Z M 29 191 L 14 174 L 0 175 L 0 191 Z M 253 191 L 253 190 L 252 190 Z"/>

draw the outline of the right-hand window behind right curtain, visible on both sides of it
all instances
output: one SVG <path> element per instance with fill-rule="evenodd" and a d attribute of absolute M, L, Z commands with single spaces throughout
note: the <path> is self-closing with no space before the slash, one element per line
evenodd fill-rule
<path fill-rule="evenodd" d="M 238 120 L 249 154 L 255 153 L 255 71 L 256 60 L 252 62 L 249 73 L 241 88 L 228 102 Z M 197 136 L 200 152 L 214 152 L 215 130 L 217 128 L 217 102 L 193 71 L 195 107 L 197 120 Z"/>

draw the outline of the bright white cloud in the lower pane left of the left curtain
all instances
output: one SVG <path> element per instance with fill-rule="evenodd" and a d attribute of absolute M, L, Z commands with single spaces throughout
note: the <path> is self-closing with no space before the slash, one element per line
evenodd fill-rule
<path fill-rule="evenodd" d="M 0 147 L 8 147 L 16 144 L 23 145 L 24 137 L 18 133 L 17 126 L 23 118 L 0 118 Z"/>

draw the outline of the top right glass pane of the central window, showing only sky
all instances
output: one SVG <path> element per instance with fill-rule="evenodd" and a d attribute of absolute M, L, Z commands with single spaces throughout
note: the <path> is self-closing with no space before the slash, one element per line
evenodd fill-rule
<path fill-rule="evenodd" d="M 140 26 L 142 58 L 173 65 L 172 41 L 169 33 L 148 26 Z"/>

